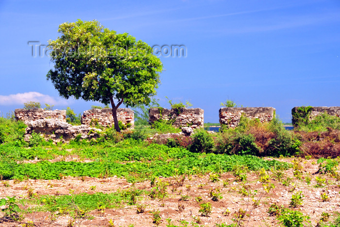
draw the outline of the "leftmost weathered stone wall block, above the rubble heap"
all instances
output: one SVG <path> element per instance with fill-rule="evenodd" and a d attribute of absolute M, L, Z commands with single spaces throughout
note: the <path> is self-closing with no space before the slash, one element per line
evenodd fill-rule
<path fill-rule="evenodd" d="M 55 119 L 66 122 L 66 110 L 16 109 L 16 119 L 25 123 L 39 119 Z"/>

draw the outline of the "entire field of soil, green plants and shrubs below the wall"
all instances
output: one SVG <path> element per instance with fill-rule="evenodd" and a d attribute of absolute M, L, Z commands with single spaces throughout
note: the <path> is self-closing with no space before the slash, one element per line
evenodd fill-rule
<path fill-rule="evenodd" d="M 3 226 L 340 226 L 331 127 L 241 118 L 216 134 L 144 141 L 179 131 L 159 122 L 53 144 L 38 134 L 27 143 L 24 124 L 0 120 Z"/>

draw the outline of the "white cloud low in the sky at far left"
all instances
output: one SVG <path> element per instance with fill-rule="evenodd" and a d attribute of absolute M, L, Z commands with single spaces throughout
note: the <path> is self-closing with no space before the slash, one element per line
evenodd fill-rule
<path fill-rule="evenodd" d="M 17 93 L 11 95 L 0 95 L 0 105 L 17 105 L 27 102 L 39 102 L 42 105 L 47 103 L 49 105 L 67 105 L 69 102 L 62 98 L 54 98 L 49 95 L 44 95 L 36 91 L 25 93 Z"/>

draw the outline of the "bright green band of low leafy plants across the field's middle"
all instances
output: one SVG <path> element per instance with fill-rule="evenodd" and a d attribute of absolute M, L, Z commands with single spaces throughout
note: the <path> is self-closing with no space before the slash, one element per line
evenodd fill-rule
<path fill-rule="evenodd" d="M 48 154 L 45 149 L 17 149 L 1 150 L 0 176 L 2 179 L 60 179 L 65 175 L 108 177 L 124 176 L 128 181 L 143 181 L 155 176 L 174 176 L 175 174 L 197 174 L 207 172 L 232 171 L 235 166 L 244 165 L 249 170 L 271 167 L 288 169 L 290 164 L 275 160 L 263 160 L 254 156 L 228 156 L 216 154 L 192 153 L 184 148 L 169 148 L 165 145 L 136 143 L 135 140 L 122 140 L 115 147 L 83 146 L 72 147 L 71 153 L 66 152 L 70 145 L 65 145 L 60 151 L 57 147 L 49 148 Z M 53 146 L 52 146 L 53 147 Z M 46 150 L 45 150 L 46 151 Z M 9 154 L 9 157 L 6 156 Z M 79 154 L 82 157 L 93 158 L 93 162 L 49 162 L 40 161 L 35 164 L 18 164 L 15 160 L 24 157 L 43 159 L 56 156 L 57 154 Z M 128 161 L 119 163 L 118 161 Z M 134 161 L 134 162 L 130 162 Z"/>

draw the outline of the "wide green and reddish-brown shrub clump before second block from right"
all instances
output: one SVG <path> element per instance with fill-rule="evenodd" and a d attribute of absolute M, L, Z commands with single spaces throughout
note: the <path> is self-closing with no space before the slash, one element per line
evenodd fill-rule
<path fill-rule="evenodd" d="M 277 118 L 259 122 L 241 116 L 235 129 L 224 127 L 215 140 L 214 152 L 228 155 L 290 156 L 299 151 L 300 141 Z"/>

